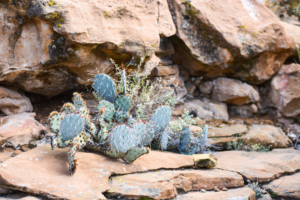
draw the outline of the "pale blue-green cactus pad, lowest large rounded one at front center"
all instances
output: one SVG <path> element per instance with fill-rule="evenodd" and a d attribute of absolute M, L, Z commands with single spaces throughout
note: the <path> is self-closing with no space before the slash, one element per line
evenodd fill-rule
<path fill-rule="evenodd" d="M 131 129 L 126 125 L 118 125 L 110 132 L 110 144 L 115 152 L 126 153 L 132 147 Z"/>

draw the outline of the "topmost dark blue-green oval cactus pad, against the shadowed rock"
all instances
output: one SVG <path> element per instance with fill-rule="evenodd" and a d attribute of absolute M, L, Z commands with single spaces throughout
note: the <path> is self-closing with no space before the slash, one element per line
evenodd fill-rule
<path fill-rule="evenodd" d="M 92 87 L 102 99 L 111 103 L 114 102 L 116 97 L 116 85 L 109 76 L 106 74 L 98 74 L 94 78 Z"/>

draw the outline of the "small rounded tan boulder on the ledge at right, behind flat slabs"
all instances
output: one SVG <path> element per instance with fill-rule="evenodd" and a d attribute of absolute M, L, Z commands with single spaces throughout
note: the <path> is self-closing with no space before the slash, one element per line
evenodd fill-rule
<path fill-rule="evenodd" d="M 244 142 L 271 146 L 272 148 L 292 147 L 293 142 L 281 128 L 270 125 L 253 125 L 244 136 Z"/>

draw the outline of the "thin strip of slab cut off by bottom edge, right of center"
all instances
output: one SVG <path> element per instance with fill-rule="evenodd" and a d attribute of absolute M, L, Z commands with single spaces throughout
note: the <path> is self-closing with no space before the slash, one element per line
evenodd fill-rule
<path fill-rule="evenodd" d="M 256 193 L 248 188 L 237 188 L 220 192 L 190 192 L 176 197 L 176 200 L 255 200 Z"/>

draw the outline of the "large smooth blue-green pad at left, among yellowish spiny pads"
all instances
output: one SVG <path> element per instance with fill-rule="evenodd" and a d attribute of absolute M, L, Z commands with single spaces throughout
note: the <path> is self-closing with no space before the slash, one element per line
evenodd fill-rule
<path fill-rule="evenodd" d="M 83 131 L 84 124 L 84 120 L 80 115 L 67 115 L 60 125 L 59 131 L 61 133 L 62 140 L 67 141 L 79 135 Z"/>

